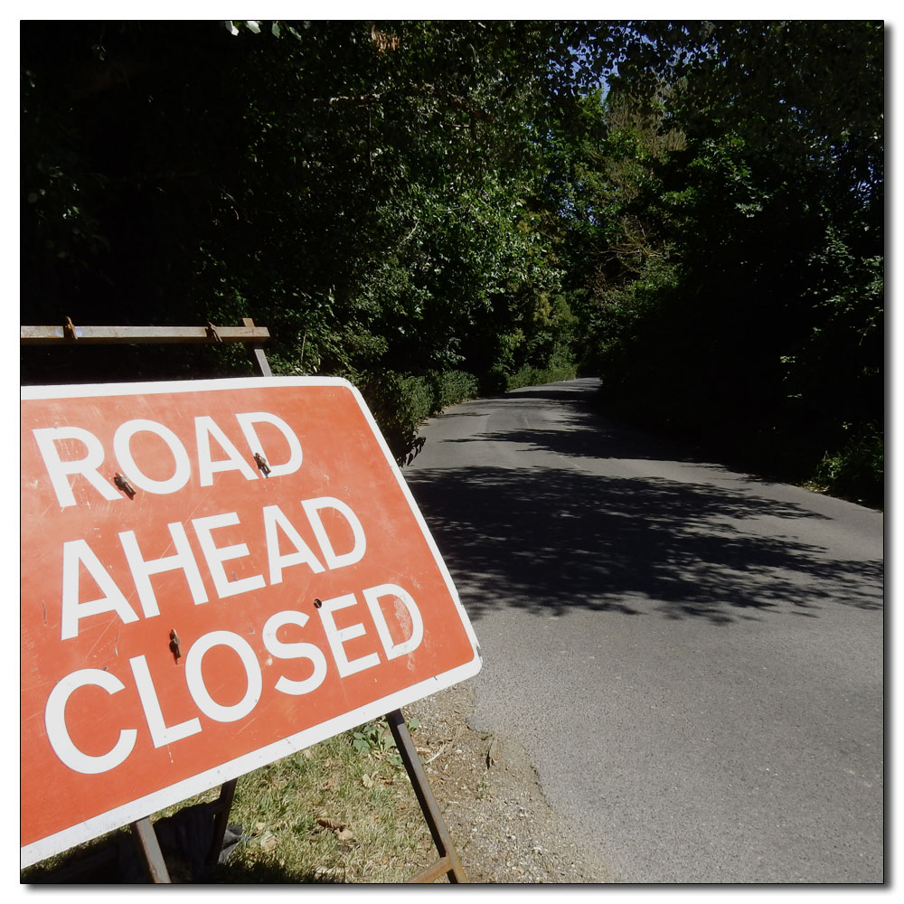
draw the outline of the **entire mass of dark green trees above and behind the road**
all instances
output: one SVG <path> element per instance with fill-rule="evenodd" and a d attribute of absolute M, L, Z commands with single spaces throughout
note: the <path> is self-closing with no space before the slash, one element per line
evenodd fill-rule
<path fill-rule="evenodd" d="M 362 385 L 400 456 L 456 393 L 580 370 L 622 417 L 875 495 L 883 38 L 26 21 L 23 322 L 253 317 L 275 371 Z M 108 351 L 90 378 L 167 360 Z M 99 366 L 28 351 L 23 380 Z"/>

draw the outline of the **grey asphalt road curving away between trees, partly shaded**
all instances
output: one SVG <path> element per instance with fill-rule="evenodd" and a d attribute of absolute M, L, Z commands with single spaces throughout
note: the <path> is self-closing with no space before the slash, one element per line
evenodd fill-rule
<path fill-rule="evenodd" d="M 449 409 L 404 469 L 474 728 L 619 882 L 881 882 L 882 514 L 621 428 L 596 385 Z"/>

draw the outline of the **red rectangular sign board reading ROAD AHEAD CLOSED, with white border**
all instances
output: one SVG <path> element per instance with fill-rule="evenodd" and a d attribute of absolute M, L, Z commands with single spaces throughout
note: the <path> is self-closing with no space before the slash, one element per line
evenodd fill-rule
<path fill-rule="evenodd" d="M 27 866 L 474 675 L 343 380 L 22 391 Z"/>

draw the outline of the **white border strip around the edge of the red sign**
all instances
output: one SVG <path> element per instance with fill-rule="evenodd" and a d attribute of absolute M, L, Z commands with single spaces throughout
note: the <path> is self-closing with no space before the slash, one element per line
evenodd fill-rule
<path fill-rule="evenodd" d="M 51 857 L 53 854 L 67 851 L 76 844 L 97 838 L 99 835 L 117 829 L 122 825 L 135 822 L 147 815 L 152 815 L 166 806 L 178 804 L 188 797 L 201 794 L 210 790 L 212 787 L 221 785 L 230 781 L 232 778 L 238 778 L 246 775 L 262 766 L 287 757 L 298 750 L 303 750 L 316 744 L 318 741 L 332 738 L 334 735 L 341 734 L 343 731 L 353 729 L 363 722 L 379 718 L 387 712 L 400 709 L 416 700 L 428 697 L 432 693 L 443 690 L 466 678 L 471 678 L 480 671 L 480 646 L 474 633 L 474 628 L 468 620 L 465 609 L 461 605 L 458 598 L 458 592 L 449 574 L 446 563 L 443 561 L 439 553 L 436 542 L 430 534 L 427 523 L 424 521 L 423 515 L 420 513 L 418 504 L 411 494 L 405 478 L 402 476 L 399 466 L 392 457 L 390 448 L 386 445 L 386 440 L 382 437 L 380 428 L 377 427 L 376 421 L 373 419 L 371 411 L 368 409 L 363 400 L 361 393 L 347 380 L 339 377 L 238 377 L 238 378 L 222 378 L 213 380 L 177 380 L 177 381 L 161 381 L 153 383 L 91 383 L 77 384 L 70 386 L 24 386 L 21 388 L 22 400 L 32 399 L 76 399 L 84 397 L 113 396 L 113 395 L 152 395 L 164 392 L 203 392 L 214 390 L 241 390 L 250 389 L 252 387 L 268 387 L 268 386 L 342 386 L 352 391 L 354 399 L 363 412 L 364 417 L 370 425 L 374 437 L 381 448 L 383 456 L 386 458 L 388 465 L 391 467 L 392 473 L 398 482 L 401 492 L 405 500 L 410 506 L 411 512 L 414 514 L 421 532 L 428 543 L 430 551 L 437 562 L 438 569 L 446 581 L 446 586 L 450 596 L 455 601 L 456 609 L 461 618 L 462 625 L 465 627 L 468 639 L 474 648 L 475 655 L 469 663 L 458 666 L 449 672 L 429 678 L 426 681 L 412 684 L 410 687 L 401 691 L 391 693 L 380 700 L 368 703 L 356 710 L 343 713 L 334 719 L 321 722 L 297 734 L 289 735 L 287 738 L 278 740 L 266 747 L 253 750 L 241 757 L 231 759 L 223 763 L 221 766 L 208 769 L 196 776 L 186 778 L 174 785 L 161 788 L 153 794 L 139 797 L 130 801 L 126 805 L 118 806 L 108 812 L 94 816 L 82 823 L 64 829 L 62 832 L 48 835 L 40 841 L 27 844 L 20 849 L 20 869 L 30 866 L 32 863 L 38 862 Z"/>

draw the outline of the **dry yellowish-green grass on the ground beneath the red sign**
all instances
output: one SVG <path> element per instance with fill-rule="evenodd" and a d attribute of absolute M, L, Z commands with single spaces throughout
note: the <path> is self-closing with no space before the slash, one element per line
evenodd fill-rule
<path fill-rule="evenodd" d="M 410 726 L 412 729 L 414 725 Z M 417 739 L 415 736 L 415 742 Z M 212 801 L 214 789 L 152 816 Z M 229 822 L 241 841 L 203 877 L 220 883 L 401 882 L 438 854 L 384 722 L 372 722 L 239 779 Z M 23 871 L 46 880 L 73 857 L 115 843 L 127 829 Z M 180 873 L 170 864 L 174 880 Z M 188 877 L 185 877 L 188 878 Z"/>

